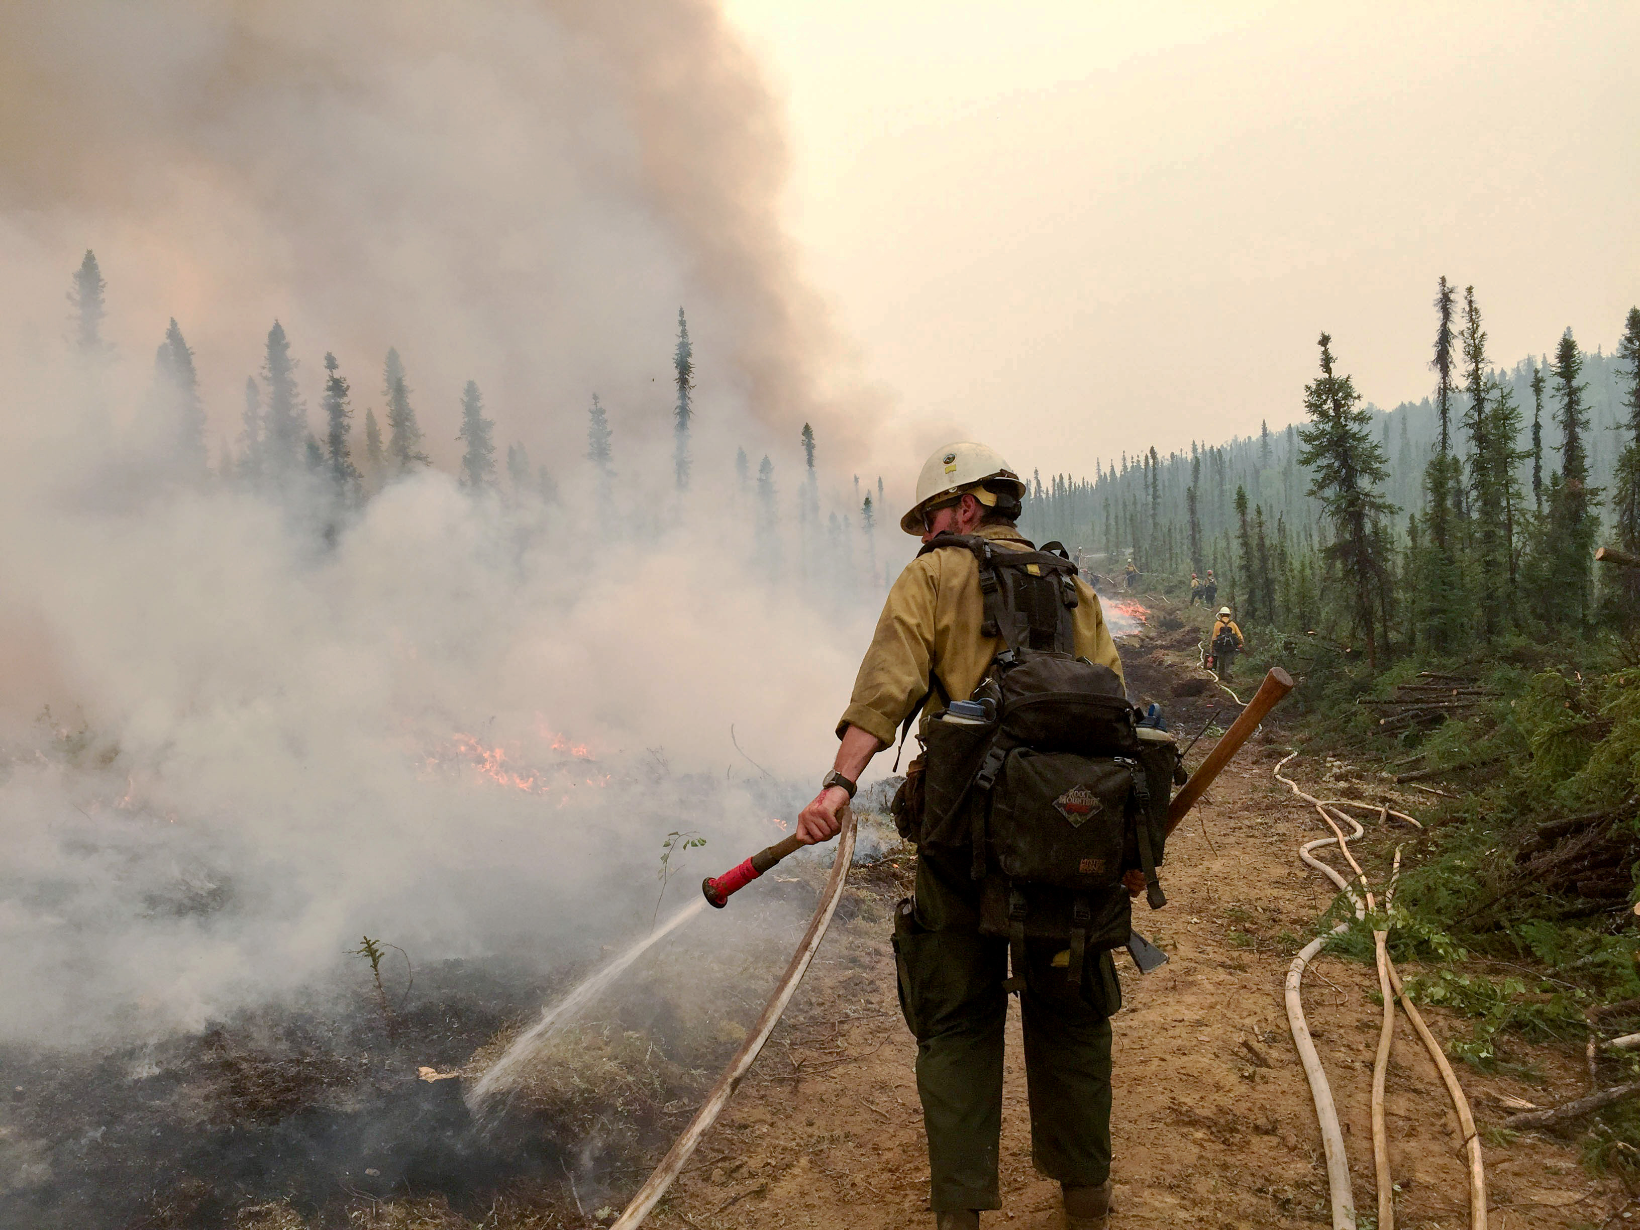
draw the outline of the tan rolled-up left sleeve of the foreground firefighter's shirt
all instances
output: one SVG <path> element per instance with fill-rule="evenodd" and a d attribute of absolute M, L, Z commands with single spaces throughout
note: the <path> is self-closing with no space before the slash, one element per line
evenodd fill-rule
<path fill-rule="evenodd" d="M 928 667 L 935 640 L 935 563 L 923 556 L 900 572 L 889 590 L 871 636 L 871 648 L 854 677 L 854 692 L 836 725 L 859 727 L 892 745 L 899 725 L 928 692 Z"/>

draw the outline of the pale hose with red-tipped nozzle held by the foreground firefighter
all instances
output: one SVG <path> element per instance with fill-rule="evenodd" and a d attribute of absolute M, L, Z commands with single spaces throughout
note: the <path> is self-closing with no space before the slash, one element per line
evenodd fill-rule
<path fill-rule="evenodd" d="M 764 871 L 786 858 L 786 854 L 797 850 L 799 845 L 800 843 L 795 835 L 789 836 L 779 845 L 758 851 L 733 871 L 718 876 L 717 881 L 708 879 L 702 884 L 707 900 L 722 907 L 728 900 L 730 892 L 735 892 L 735 889 L 761 876 Z M 763 1015 L 758 1017 L 758 1023 L 746 1035 L 746 1041 L 743 1041 L 740 1050 L 735 1051 L 735 1058 L 728 1061 L 723 1074 L 718 1076 L 717 1084 L 712 1086 L 712 1092 L 707 1094 L 707 1100 L 700 1104 L 695 1117 L 689 1120 L 689 1127 L 684 1128 L 682 1135 L 672 1143 L 672 1148 L 667 1150 L 664 1158 L 661 1158 L 661 1164 L 654 1168 L 654 1173 L 649 1174 L 643 1187 L 638 1189 L 638 1194 L 631 1197 L 626 1209 L 613 1222 L 610 1230 L 635 1230 L 635 1227 L 643 1223 L 643 1219 L 649 1215 L 649 1210 L 656 1205 L 656 1202 L 666 1196 L 666 1189 L 672 1186 L 672 1179 L 676 1179 L 684 1169 L 684 1164 L 689 1161 L 689 1155 L 695 1151 L 695 1146 L 700 1143 L 700 1138 L 705 1137 L 707 1128 L 717 1122 L 718 1114 L 722 1114 L 723 1107 L 728 1105 L 728 1099 L 740 1086 L 741 1077 L 745 1077 L 751 1069 L 758 1053 L 763 1050 L 763 1043 L 769 1040 L 769 1035 L 781 1020 L 781 1014 L 786 1012 L 787 1002 L 790 1002 L 792 994 L 797 991 L 797 984 L 802 982 L 804 973 L 809 969 L 809 963 L 820 948 L 827 927 L 831 925 L 831 915 L 836 912 L 836 904 L 843 895 L 843 881 L 848 877 L 848 868 L 853 859 L 854 812 L 853 809 L 845 807 L 843 831 L 838 835 L 836 841 L 836 859 L 833 859 L 831 872 L 827 876 L 825 887 L 820 891 L 820 904 L 815 905 L 815 915 L 809 920 L 809 930 L 804 932 L 804 938 L 797 945 L 797 951 L 792 954 L 790 964 L 786 966 L 786 973 L 781 974 L 781 981 L 774 986 L 774 994 L 771 994 L 769 1002 L 763 1005 Z M 723 884 L 723 881 L 728 881 L 730 877 L 735 877 L 735 882 Z"/>

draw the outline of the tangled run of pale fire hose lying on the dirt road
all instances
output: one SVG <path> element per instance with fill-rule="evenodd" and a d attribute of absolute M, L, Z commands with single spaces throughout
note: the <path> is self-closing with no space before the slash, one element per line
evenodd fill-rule
<path fill-rule="evenodd" d="M 1282 766 L 1291 761 L 1299 753 L 1294 751 L 1286 756 L 1274 768 L 1276 781 L 1284 782 L 1299 799 L 1315 807 L 1327 827 L 1332 828 L 1333 836 L 1323 836 L 1315 841 L 1307 841 L 1299 848 L 1299 858 L 1305 864 L 1320 871 L 1327 879 L 1338 886 L 1350 904 L 1355 907 L 1355 917 L 1364 918 L 1368 912 L 1373 912 L 1373 948 L 1378 964 L 1379 991 L 1384 997 L 1384 1022 L 1378 1036 L 1378 1053 L 1373 1063 L 1373 1156 L 1374 1156 L 1374 1179 L 1378 1186 L 1378 1227 L 1379 1230 L 1394 1230 L 1396 1214 L 1394 1214 L 1394 1197 L 1392 1182 L 1389 1174 L 1389 1143 L 1384 1132 L 1384 1074 L 1389 1064 L 1389 1046 L 1394 1030 L 1394 1005 L 1399 1000 L 1402 1010 L 1407 1014 L 1407 1020 L 1412 1022 L 1412 1028 L 1417 1032 L 1419 1040 L 1424 1048 L 1430 1053 L 1435 1061 L 1437 1071 L 1440 1071 L 1442 1082 L 1446 1086 L 1446 1096 L 1451 1099 L 1453 1112 L 1458 1118 L 1458 1128 L 1463 1135 L 1465 1151 L 1469 1163 L 1469 1227 L 1471 1230 L 1486 1230 L 1486 1169 L 1481 1156 L 1481 1138 L 1474 1127 L 1474 1115 L 1469 1112 L 1469 1100 L 1463 1094 L 1463 1086 L 1458 1084 L 1458 1076 L 1453 1073 L 1451 1064 L 1446 1061 L 1445 1051 L 1442 1051 L 1440 1043 L 1435 1035 L 1430 1033 L 1428 1025 L 1424 1022 L 1424 1015 L 1419 1012 L 1417 1005 L 1405 994 L 1401 984 L 1401 974 L 1396 969 L 1394 961 L 1389 959 L 1389 951 L 1386 946 L 1389 936 L 1389 905 L 1394 894 L 1394 881 L 1401 872 L 1401 850 L 1396 850 L 1396 866 L 1391 872 L 1389 892 L 1384 897 L 1384 910 L 1378 912 L 1378 905 L 1373 900 L 1373 892 L 1366 882 L 1366 872 L 1356 861 L 1355 854 L 1350 851 L 1350 841 L 1363 835 L 1361 825 L 1343 813 L 1343 807 L 1358 807 L 1369 812 L 1378 812 L 1381 820 L 1389 820 L 1396 817 L 1419 828 L 1420 825 L 1410 815 L 1404 812 L 1394 812 L 1389 807 L 1374 804 L 1358 804 L 1346 800 L 1323 800 L 1299 789 L 1297 782 L 1291 777 L 1282 776 Z M 1345 838 L 1343 830 L 1338 827 L 1337 820 L 1343 820 L 1355 831 Z M 1343 853 L 1350 868 L 1360 879 L 1361 892 L 1355 891 L 1338 871 L 1322 863 L 1310 851 L 1320 846 L 1337 845 Z M 1322 1145 L 1327 1153 L 1327 1186 L 1332 1196 L 1332 1217 L 1333 1230 L 1355 1230 L 1355 1197 L 1350 1187 L 1350 1164 L 1343 1151 L 1343 1133 L 1338 1127 L 1338 1112 L 1332 1100 L 1332 1087 L 1327 1084 L 1327 1074 L 1320 1066 L 1320 1058 L 1315 1053 L 1315 1043 L 1310 1040 L 1309 1025 L 1304 1020 L 1304 1004 L 1301 1000 L 1301 981 L 1304 977 L 1304 969 L 1309 961 L 1322 950 L 1322 945 L 1328 938 L 1338 935 L 1340 932 L 1350 930 L 1350 923 L 1343 922 L 1332 928 L 1327 935 L 1320 935 L 1305 945 L 1299 954 L 1292 959 L 1292 966 L 1287 969 L 1286 982 L 1286 1000 L 1287 1000 L 1287 1023 L 1292 1028 L 1292 1041 L 1299 1051 L 1299 1059 L 1304 1064 L 1304 1074 L 1310 1082 L 1310 1094 L 1315 1099 L 1315 1117 L 1322 1128 Z"/>

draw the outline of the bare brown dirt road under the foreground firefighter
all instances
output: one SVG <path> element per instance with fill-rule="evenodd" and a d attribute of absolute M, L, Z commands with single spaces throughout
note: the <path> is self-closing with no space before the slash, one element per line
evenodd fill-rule
<path fill-rule="evenodd" d="M 1314 935 L 1332 891 L 1296 850 L 1323 836 L 1314 812 L 1271 779 L 1286 753 L 1251 746 L 1169 843 L 1171 904 L 1137 925 L 1171 954 L 1141 977 L 1118 954 L 1125 1005 L 1115 1017 L 1115 1227 L 1327 1225 L 1327 1184 L 1309 1089 L 1287 1033 L 1281 987 L 1292 951 Z M 1287 772 L 1314 781 L 1317 766 Z M 856 872 L 859 912 L 833 928 L 794 1009 L 651 1225 L 932 1225 L 928 1166 L 900 1020 L 889 910 L 907 892 L 910 858 Z M 1374 1225 L 1368 1099 L 1379 1005 L 1368 966 L 1322 956 L 1305 1007 L 1345 1127 L 1361 1227 Z M 1466 1032 L 1430 1012 L 1438 1036 Z M 1520 1086 L 1460 1064 L 1486 1148 L 1491 1225 L 1625 1225 L 1622 1194 L 1589 1179 L 1576 1146 L 1527 1135 L 1499 1146 L 1497 1096 L 1556 1102 L 1586 1092 L 1578 1064 L 1542 1051 L 1543 1082 Z M 1018 1015 L 1009 1020 L 1002 1132 L 1005 1209 L 991 1225 L 1058 1227 L 1058 1187 L 1030 1163 Z M 1401 1017 L 1387 1120 L 1399 1223 L 1468 1225 L 1461 1143 L 1428 1056 Z M 1635 1214 L 1640 1217 L 1640 1214 Z"/>

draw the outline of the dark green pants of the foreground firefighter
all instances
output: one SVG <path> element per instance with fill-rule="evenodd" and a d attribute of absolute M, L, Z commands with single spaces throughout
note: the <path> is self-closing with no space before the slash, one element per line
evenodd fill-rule
<path fill-rule="evenodd" d="M 1025 1081 L 1032 1158 L 1050 1179 L 1097 1186 L 1110 1174 L 1110 1014 L 1122 1004 L 1110 953 L 1089 953 L 1073 987 L 1053 958 L 1064 943 L 1027 941 Z M 928 1133 L 935 1212 L 1000 1209 L 1002 1027 L 1007 940 L 979 933 L 968 858 L 917 861 L 915 909 L 894 918 L 900 1009 L 917 1035 L 917 1092 Z"/>

